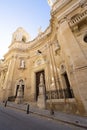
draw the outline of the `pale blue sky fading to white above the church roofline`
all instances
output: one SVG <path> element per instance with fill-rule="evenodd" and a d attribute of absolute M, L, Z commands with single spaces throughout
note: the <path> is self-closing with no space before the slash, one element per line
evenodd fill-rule
<path fill-rule="evenodd" d="M 0 59 L 8 51 L 12 34 L 23 27 L 31 39 L 41 27 L 45 31 L 50 23 L 47 0 L 0 0 Z"/>

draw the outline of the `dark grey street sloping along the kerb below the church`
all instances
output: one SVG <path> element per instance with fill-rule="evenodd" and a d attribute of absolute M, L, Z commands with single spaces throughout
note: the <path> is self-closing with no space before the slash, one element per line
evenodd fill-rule
<path fill-rule="evenodd" d="M 0 130 L 85 130 L 0 106 Z"/>

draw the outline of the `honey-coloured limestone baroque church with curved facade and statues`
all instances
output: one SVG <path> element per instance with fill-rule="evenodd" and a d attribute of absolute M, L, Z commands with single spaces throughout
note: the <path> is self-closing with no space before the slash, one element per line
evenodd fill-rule
<path fill-rule="evenodd" d="M 0 61 L 0 100 L 87 114 L 87 0 L 48 0 L 49 27 L 18 28 Z M 20 94 L 21 93 L 21 94 Z"/>

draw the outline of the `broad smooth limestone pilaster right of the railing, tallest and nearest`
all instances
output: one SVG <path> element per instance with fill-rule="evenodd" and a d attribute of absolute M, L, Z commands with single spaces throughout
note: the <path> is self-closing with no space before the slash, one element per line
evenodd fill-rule
<path fill-rule="evenodd" d="M 66 20 L 60 23 L 57 37 L 61 49 L 64 52 L 65 60 L 68 59 L 68 62 L 72 64 L 71 83 L 78 103 L 78 109 L 80 113 L 84 113 L 84 111 L 87 112 L 87 59 Z"/>

